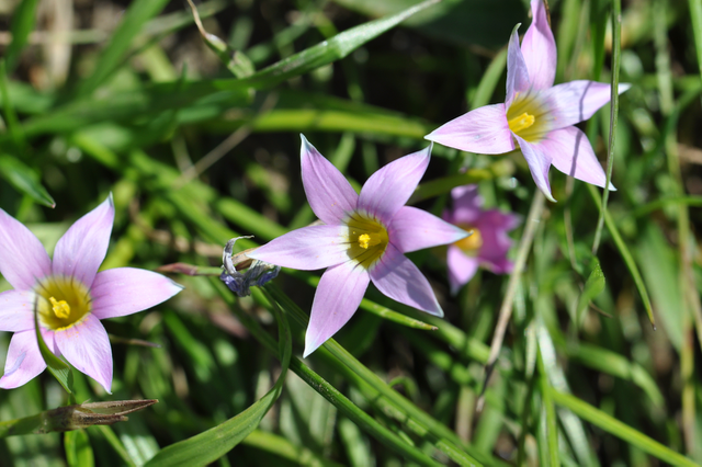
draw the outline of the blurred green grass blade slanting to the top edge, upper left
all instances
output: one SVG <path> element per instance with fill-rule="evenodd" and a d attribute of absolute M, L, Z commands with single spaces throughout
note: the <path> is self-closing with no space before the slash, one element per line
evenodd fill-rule
<path fill-rule="evenodd" d="M 112 76 L 132 46 L 132 39 L 148 20 L 166 7 L 166 3 L 168 0 L 135 0 L 129 4 L 110 44 L 100 54 L 93 73 L 80 84 L 78 89 L 80 95 L 91 94 Z"/>

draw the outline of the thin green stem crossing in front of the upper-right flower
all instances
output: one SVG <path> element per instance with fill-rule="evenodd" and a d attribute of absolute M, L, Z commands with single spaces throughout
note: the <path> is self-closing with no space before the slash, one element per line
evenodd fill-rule
<path fill-rule="evenodd" d="M 610 89 L 610 140 L 607 150 L 607 179 L 604 181 L 604 192 L 602 193 L 602 209 L 597 219 L 595 241 L 592 242 L 592 254 L 597 254 L 602 239 L 604 228 L 604 212 L 610 197 L 610 181 L 612 180 L 612 168 L 614 167 L 614 137 L 616 135 L 616 121 L 619 115 L 619 68 L 622 50 L 622 2 L 612 0 L 612 86 Z"/>

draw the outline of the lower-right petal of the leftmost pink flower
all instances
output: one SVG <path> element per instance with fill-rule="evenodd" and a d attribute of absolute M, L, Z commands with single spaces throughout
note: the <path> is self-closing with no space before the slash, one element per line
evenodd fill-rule
<path fill-rule="evenodd" d="M 112 394 L 112 349 L 105 328 L 94 315 L 88 314 L 78 324 L 55 331 L 54 338 L 68 363 Z"/>

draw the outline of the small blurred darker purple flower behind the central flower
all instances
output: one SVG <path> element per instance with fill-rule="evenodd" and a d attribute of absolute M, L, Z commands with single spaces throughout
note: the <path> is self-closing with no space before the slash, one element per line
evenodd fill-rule
<path fill-rule="evenodd" d="M 449 246 L 446 262 L 451 293 L 456 294 L 475 275 L 478 265 L 496 274 L 512 271 L 507 252 L 512 240 L 507 232 L 519 225 L 519 216 L 497 209 L 483 209 L 477 185 L 456 186 L 451 190 L 453 209 L 443 213 L 443 219 L 466 231 L 471 237 Z"/>

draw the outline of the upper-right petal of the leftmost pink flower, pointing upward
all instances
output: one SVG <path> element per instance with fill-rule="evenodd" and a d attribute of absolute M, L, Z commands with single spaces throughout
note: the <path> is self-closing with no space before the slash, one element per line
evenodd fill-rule
<path fill-rule="evenodd" d="M 107 253 L 114 221 L 112 193 L 105 201 L 70 226 L 54 250 L 54 274 L 92 284 Z"/>

